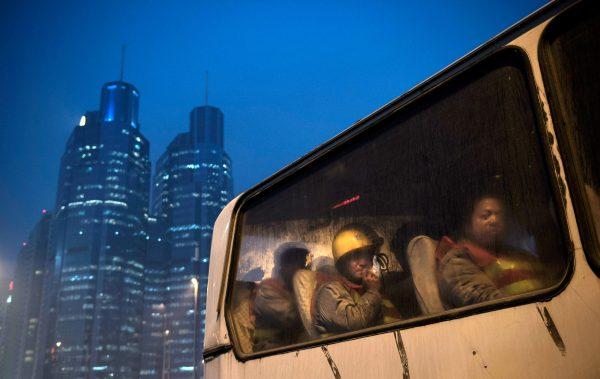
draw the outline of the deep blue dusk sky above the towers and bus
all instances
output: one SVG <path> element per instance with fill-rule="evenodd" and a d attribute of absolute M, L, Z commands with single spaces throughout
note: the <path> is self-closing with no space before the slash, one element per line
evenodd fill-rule
<path fill-rule="evenodd" d="M 53 208 L 66 140 L 118 79 L 122 44 L 153 166 L 209 71 L 239 193 L 545 2 L 324 3 L 2 0 L 0 278 Z"/>

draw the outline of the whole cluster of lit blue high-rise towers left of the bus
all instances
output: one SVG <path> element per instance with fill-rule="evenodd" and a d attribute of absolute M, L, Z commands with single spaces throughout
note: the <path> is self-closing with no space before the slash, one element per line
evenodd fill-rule
<path fill-rule="evenodd" d="M 139 105 L 133 84 L 107 82 L 73 126 L 10 284 L 6 376 L 202 377 L 212 226 L 233 194 L 224 115 L 194 107 L 151 180 Z"/>

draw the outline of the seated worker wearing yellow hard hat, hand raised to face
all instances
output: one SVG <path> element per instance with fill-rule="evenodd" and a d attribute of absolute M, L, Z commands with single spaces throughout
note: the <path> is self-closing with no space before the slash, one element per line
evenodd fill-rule
<path fill-rule="evenodd" d="M 340 275 L 315 294 L 315 327 L 324 336 L 377 325 L 399 314 L 381 294 L 381 281 L 373 269 L 373 257 L 383 239 L 367 225 L 349 224 L 333 239 L 333 258 Z M 388 312 L 389 310 L 389 312 Z"/>

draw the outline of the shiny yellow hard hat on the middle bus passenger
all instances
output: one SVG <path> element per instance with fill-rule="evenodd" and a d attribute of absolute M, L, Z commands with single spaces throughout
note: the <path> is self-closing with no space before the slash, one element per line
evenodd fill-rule
<path fill-rule="evenodd" d="M 349 224 L 344 226 L 333 237 L 333 259 L 339 260 L 346 254 L 362 249 L 375 253 L 383 244 L 383 238 L 369 226 L 364 224 Z"/>

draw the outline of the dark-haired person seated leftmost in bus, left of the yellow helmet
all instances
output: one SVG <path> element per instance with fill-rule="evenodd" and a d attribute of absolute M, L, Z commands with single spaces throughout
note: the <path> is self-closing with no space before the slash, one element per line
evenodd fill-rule
<path fill-rule="evenodd" d="M 304 332 L 292 279 L 296 271 L 306 268 L 308 254 L 300 243 L 284 243 L 275 250 L 272 276 L 258 285 L 254 297 L 254 351 L 298 342 Z"/>

